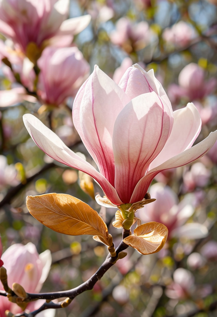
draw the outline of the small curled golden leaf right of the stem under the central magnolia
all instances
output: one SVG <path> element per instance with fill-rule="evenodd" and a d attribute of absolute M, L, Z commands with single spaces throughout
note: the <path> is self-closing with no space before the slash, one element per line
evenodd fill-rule
<path fill-rule="evenodd" d="M 136 227 L 134 234 L 123 239 L 123 242 L 136 249 L 141 254 L 158 252 L 164 246 L 168 229 L 158 222 L 148 222 Z"/>

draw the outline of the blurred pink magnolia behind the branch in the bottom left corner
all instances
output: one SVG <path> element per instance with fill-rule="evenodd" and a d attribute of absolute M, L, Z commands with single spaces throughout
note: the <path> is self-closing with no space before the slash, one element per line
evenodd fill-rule
<path fill-rule="evenodd" d="M 36 247 L 29 242 L 26 245 L 13 244 L 2 255 L 4 267 L 7 270 L 8 285 L 11 288 L 13 283 L 18 283 L 29 293 L 37 293 L 41 290 L 46 280 L 50 265 L 51 253 L 49 250 L 38 255 Z M 0 282 L 0 289 L 3 285 Z M 43 301 L 35 301 L 27 305 L 27 310 L 34 310 L 42 305 Z M 4 316 L 5 310 L 12 313 L 20 313 L 22 309 L 7 297 L 0 296 L 0 316 Z M 51 316 L 55 310 L 50 310 Z"/>

